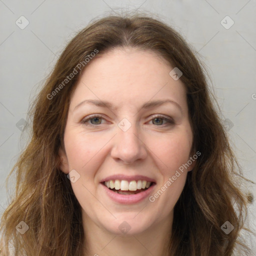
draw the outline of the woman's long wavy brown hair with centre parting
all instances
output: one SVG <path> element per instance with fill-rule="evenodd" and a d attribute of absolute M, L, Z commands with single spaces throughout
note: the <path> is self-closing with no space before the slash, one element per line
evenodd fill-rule
<path fill-rule="evenodd" d="M 170 26 L 135 14 L 107 16 L 81 30 L 60 55 L 34 101 L 31 139 L 12 169 L 17 179 L 15 196 L 1 218 L 1 255 L 9 255 L 8 247 L 15 256 L 82 254 L 86 237 L 80 205 L 69 179 L 59 169 L 58 149 L 63 145 L 70 95 L 81 71 L 93 61 L 91 56 L 127 46 L 157 52 L 170 66 L 181 70 L 193 148 L 201 152 L 174 207 L 169 254 L 227 256 L 232 255 L 235 245 L 246 249 L 238 234 L 247 202 L 235 183 L 238 165 L 204 69 L 191 47 Z M 75 74 L 67 79 L 70 73 Z M 29 227 L 24 234 L 16 230 L 18 224 L 20 228 L 24 225 L 20 221 Z M 225 221 L 234 227 L 228 234 L 221 229 Z"/>

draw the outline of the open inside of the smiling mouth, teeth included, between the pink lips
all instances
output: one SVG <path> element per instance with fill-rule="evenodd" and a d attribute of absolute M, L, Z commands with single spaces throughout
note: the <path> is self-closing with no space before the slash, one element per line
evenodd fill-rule
<path fill-rule="evenodd" d="M 102 182 L 108 189 L 118 194 L 137 194 L 154 185 L 154 182 L 146 180 L 108 180 Z"/>

